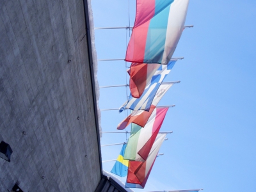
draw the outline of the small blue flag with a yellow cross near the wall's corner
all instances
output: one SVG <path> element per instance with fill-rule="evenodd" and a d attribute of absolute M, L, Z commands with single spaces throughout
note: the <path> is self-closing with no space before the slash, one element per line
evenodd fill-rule
<path fill-rule="evenodd" d="M 125 177 L 127 175 L 129 161 L 124 159 L 124 152 L 127 144 L 124 144 L 119 156 L 116 159 L 111 173 L 114 173 L 120 177 Z"/>

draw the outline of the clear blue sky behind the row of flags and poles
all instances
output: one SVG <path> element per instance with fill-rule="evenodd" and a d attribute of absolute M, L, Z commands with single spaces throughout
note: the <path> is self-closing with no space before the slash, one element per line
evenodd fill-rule
<path fill-rule="evenodd" d="M 92 0 L 95 27 L 129 26 L 129 7 L 133 26 L 136 1 L 128 2 Z M 161 128 L 173 134 L 164 141 L 164 156 L 157 158 L 145 189 L 136 191 L 256 191 L 255 19 L 256 1 L 190 1 L 186 25 L 195 27 L 184 30 L 173 54 L 185 59 L 164 80 L 181 82 L 159 102 L 176 105 Z M 125 58 L 128 42 L 125 29 L 95 30 L 98 59 Z M 98 65 L 100 86 L 129 82 L 125 61 Z M 119 108 L 125 100 L 124 87 L 100 90 L 101 109 Z M 102 111 L 102 131 L 116 131 L 127 112 Z M 101 139 L 102 145 L 124 141 L 125 134 Z M 116 159 L 121 148 L 102 147 L 102 160 Z M 104 170 L 114 163 L 103 163 Z"/>

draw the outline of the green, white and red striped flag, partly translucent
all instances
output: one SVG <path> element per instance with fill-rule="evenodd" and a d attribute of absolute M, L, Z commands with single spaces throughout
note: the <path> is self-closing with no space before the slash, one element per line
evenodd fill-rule
<path fill-rule="evenodd" d="M 156 108 L 143 129 L 132 124 L 131 136 L 127 142 L 124 159 L 132 161 L 145 161 L 152 148 L 156 136 L 163 124 L 168 108 Z"/>

